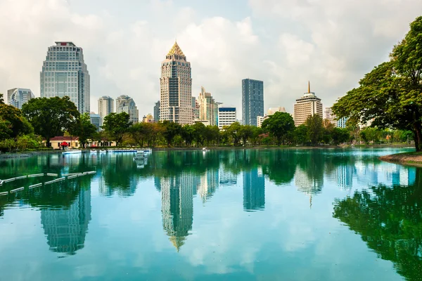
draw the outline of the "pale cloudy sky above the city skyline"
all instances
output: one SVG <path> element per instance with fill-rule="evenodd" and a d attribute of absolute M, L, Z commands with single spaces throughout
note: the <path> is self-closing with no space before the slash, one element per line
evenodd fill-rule
<path fill-rule="evenodd" d="M 29 88 L 55 41 L 84 49 L 91 111 L 98 98 L 131 96 L 139 115 L 160 99 L 160 63 L 177 39 L 200 87 L 236 106 L 241 80 L 264 81 L 264 108 L 311 90 L 324 107 L 388 60 L 422 15 L 421 0 L 0 0 L 0 93 Z"/>

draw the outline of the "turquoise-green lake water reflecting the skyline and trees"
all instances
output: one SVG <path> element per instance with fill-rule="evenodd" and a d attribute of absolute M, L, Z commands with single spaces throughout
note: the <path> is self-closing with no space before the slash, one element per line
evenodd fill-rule
<path fill-rule="evenodd" d="M 0 185 L 0 280 L 422 280 L 422 169 L 378 160 L 404 151 L 3 160 L 57 176 Z"/>

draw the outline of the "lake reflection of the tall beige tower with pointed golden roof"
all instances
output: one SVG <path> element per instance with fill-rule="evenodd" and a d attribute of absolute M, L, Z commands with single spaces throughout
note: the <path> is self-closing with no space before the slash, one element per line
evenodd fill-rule
<path fill-rule="evenodd" d="M 162 227 L 179 251 L 193 224 L 193 186 L 196 177 L 190 173 L 161 178 Z"/>

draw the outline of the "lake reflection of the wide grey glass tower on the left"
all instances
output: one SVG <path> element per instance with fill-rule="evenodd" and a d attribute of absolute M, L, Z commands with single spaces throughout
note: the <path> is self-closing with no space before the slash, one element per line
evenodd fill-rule
<path fill-rule="evenodd" d="M 75 254 L 84 247 L 91 221 L 91 190 L 79 190 L 69 207 L 41 209 L 41 224 L 51 251 Z"/>

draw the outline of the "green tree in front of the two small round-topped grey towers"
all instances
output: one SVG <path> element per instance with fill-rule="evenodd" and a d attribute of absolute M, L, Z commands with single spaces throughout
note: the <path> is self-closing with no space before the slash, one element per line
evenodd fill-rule
<path fill-rule="evenodd" d="M 129 122 L 129 115 L 126 112 L 112 112 L 104 117 L 104 123 L 101 128 L 107 133 L 112 141 L 119 146 L 122 144 L 124 133 L 129 131 L 132 122 Z"/>

